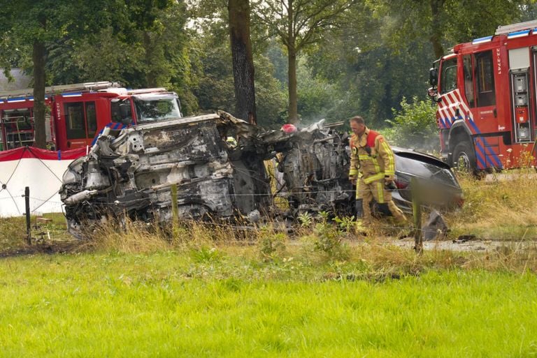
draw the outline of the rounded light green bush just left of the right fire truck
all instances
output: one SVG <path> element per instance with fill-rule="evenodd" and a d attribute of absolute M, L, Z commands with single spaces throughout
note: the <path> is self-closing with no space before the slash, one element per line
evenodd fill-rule
<path fill-rule="evenodd" d="M 436 126 L 436 108 L 430 100 L 406 98 L 401 100 L 401 110 L 393 110 L 394 119 L 387 121 L 392 128 L 385 130 L 392 144 L 398 147 L 421 151 L 438 149 L 438 127 Z"/>

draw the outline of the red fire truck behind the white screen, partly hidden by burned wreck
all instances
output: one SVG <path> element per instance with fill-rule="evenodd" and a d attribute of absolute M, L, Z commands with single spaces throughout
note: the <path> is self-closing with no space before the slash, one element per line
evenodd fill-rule
<path fill-rule="evenodd" d="M 0 149 L 34 144 L 33 89 L 0 92 Z M 68 150 L 92 144 L 105 126 L 182 117 L 178 96 L 163 88 L 124 89 L 113 82 L 47 87 L 45 118 L 48 147 Z"/>

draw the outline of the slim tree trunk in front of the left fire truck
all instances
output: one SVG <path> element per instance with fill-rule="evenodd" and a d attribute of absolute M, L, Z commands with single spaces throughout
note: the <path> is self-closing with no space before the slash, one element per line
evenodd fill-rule
<path fill-rule="evenodd" d="M 45 44 L 34 40 L 34 146 L 46 148 L 45 132 Z"/>

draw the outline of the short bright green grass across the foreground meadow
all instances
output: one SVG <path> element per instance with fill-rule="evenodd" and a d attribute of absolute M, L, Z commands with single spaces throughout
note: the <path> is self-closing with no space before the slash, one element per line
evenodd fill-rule
<path fill-rule="evenodd" d="M 194 251 L 0 261 L 1 357 L 534 357 L 537 278 Z M 357 279 L 357 278 L 364 279 Z"/>

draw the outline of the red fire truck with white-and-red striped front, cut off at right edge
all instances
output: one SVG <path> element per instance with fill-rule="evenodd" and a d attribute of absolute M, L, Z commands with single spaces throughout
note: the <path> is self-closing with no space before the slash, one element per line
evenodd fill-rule
<path fill-rule="evenodd" d="M 470 170 L 535 164 L 537 20 L 454 46 L 429 80 L 447 163 Z"/>

